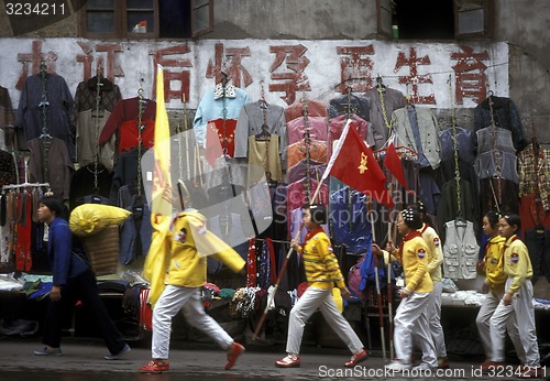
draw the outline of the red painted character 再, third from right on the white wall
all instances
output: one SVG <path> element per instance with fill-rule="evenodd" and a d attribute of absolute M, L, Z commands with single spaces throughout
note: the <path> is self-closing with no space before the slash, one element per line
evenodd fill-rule
<path fill-rule="evenodd" d="M 337 46 L 340 55 L 340 84 L 336 90 L 344 94 L 352 91 L 369 91 L 373 84 L 373 62 L 369 55 L 374 55 L 373 45 L 367 46 Z M 365 57 L 366 56 L 366 57 Z"/>

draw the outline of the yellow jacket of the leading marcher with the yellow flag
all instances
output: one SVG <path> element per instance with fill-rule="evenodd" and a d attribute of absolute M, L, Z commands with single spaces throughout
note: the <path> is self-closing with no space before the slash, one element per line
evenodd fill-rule
<path fill-rule="evenodd" d="M 241 271 L 246 264 L 239 253 L 207 230 L 206 218 L 198 211 L 182 211 L 173 225 L 167 284 L 184 287 L 199 287 L 205 284 L 209 254 L 233 272 Z"/>

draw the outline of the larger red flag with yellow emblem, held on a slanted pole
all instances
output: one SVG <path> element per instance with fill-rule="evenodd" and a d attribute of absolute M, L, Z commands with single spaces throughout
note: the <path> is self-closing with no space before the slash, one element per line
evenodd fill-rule
<path fill-rule="evenodd" d="M 332 152 L 323 178 L 331 175 L 352 188 L 388 207 L 394 206 L 386 189 L 386 176 L 374 159 L 373 151 L 360 138 L 353 122 L 345 126 L 340 141 Z"/>

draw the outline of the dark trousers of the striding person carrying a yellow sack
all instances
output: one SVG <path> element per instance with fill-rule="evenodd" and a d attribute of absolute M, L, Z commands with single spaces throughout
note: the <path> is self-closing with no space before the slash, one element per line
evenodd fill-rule
<path fill-rule="evenodd" d="M 68 312 L 73 311 L 77 301 L 81 301 L 94 314 L 94 320 L 100 328 L 109 351 L 111 353 L 120 352 L 124 348 L 124 339 L 114 326 L 99 296 L 96 275 L 91 270 L 87 270 L 77 277 L 70 279 L 62 287 L 62 298 L 59 301 L 50 301 L 42 342 L 52 348 L 59 348 L 64 317 Z"/>

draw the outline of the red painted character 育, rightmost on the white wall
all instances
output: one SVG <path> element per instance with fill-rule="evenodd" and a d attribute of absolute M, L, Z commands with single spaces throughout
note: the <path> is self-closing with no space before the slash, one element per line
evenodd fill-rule
<path fill-rule="evenodd" d="M 480 104 L 487 97 L 487 66 L 483 61 L 488 61 L 487 51 L 474 53 L 473 48 L 460 45 L 461 53 L 451 53 L 451 59 L 458 61 L 452 68 L 455 76 L 454 97 L 457 104 L 462 105 L 464 98 L 471 98 Z"/>

